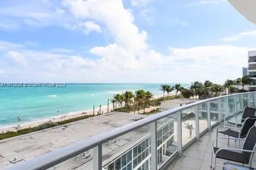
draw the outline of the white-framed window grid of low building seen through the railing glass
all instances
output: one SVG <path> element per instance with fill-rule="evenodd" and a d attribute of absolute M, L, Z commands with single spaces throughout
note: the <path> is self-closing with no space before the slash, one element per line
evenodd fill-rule
<path fill-rule="evenodd" d="M 162 126 L 157 132 L 158 145 L 158 165 L 164 162 L 165 157 L 173 154 L 173 149 L 176 150 L 174 142 L 174 120 Z M 150 135 L 145 136 L 142 141 L 134 147 L 123 152 L 118 158 L 105 165 L 105 170 L 117 169 L 150 169 L 151 152 L 150 152 Z"/>

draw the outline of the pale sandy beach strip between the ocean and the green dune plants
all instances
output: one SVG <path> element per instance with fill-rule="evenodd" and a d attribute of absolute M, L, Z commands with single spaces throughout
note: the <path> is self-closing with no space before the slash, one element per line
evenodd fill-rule
<path fill-rule="evenodd" d="M 171 94 L 171 95 L 173 95 L 173 94 Z M 160 97 L 162 97 L 162 95 L 155 95 L 154 99 L 159 99 Z M 150 112 L 150 111 L 152 111 L 153 109 L 156 109 L 156 108 L 158 108 L 158 107 L 146 108 L 145 112 Z M 111 112 L 112 110 L 113 110 L 113 105 L 112 105 L 112 103 L 109 103 L 109 112 Z M 95 108 L 94 109 L 94 114 L 97 115 L 98 112 L 100 112 L 100 108 Z M 108 106 L 103 105 L 101 107 L 101 114 L 106 114 L 106 113 L 108 113 Z M 143 113 L 143 110 L 140 110 L 139 113 Z M 138 111 L 136 111 L 135 114 L 138 114 Z M 16 131 L 17 128 L 18 128 L 18 130 L 26 129 L 26 128 L 33 128 L 33 127 L 39 126 L 39 125 L 41 125 L 45 122 L 49 122 L 49 121 L 59 122 L 59 121 L 68 120 L 70 118 L 81 117 L 81 116 L 85 116 L 85 115 L 93 115 L 93 109 L 88 110 L 88 111 L 83 111 L 83 112 L 74 112 L 74 113 L 69 113 L 69 114 L 61 114 L 60 116 L 48 118 L 46 120 L 40 120 L 40 121 L 35 121 L 35 122 L 27 122 L 27 123 L 23 123 L 23 124 L 13 125 L 13 126 L 10 126 L 10 127 L 7 127 L 7 128 L 0 128 L 0 132 L 1 133 L 6 133 L 7 131 Z"/>

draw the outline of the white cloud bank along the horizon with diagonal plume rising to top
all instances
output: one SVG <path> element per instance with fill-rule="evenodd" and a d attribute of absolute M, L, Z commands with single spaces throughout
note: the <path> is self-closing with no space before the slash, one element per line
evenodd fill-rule
<path fill-rule="evenodd" d="M 122 1 L 64 1 L 65 13 L 79 22 L 92 21 L 106 28 L 111 44 L 94 46 L 89 53 L 97 58 L 73 55 L 65 49 L 44 52 L 0 41 L 0 68 L 9 82 L 192 82 L 205 79 L 223 82 L 241 76 L 247 47 L 170 47 L 161 54 L 147 44 L 134 16 Z M 181 24 L 181 23 L 180 23 Z M 244 56 L 244 57 L 242 57 Z M 18 67 L 17 67 L 18 66 Z M 7 74 L 6 74 L 7 73 Z"/>

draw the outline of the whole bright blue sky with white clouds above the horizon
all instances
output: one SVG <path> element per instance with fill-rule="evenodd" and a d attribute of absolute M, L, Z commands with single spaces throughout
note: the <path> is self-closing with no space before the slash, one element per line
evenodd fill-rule
<path fill-rule="evenodd" d="M 223 0 L 1 1 L 0 82 L 223 82 L 255 40 Z"/>

